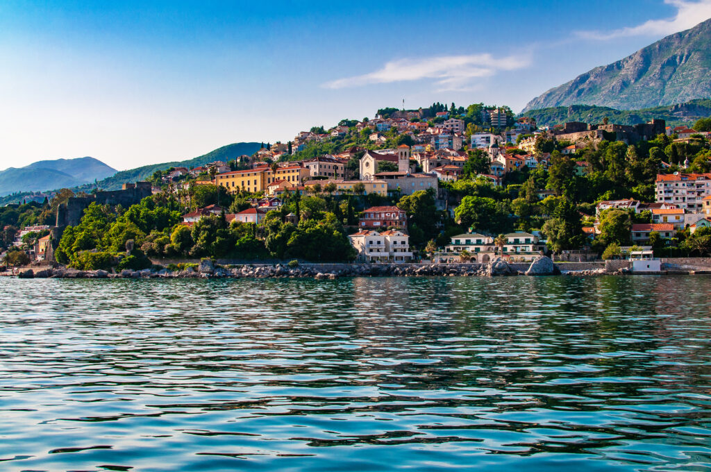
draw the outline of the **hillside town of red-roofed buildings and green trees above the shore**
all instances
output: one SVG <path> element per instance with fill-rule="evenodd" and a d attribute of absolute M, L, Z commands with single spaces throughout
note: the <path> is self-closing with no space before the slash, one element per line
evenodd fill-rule
<path fill-rule="evenodd" d="M 538 127 L 483 104 L 381 109 L 251 156 L 156 171 L 121 191 L 63 189 L 7 205 L 1 257 L 84 269 L 202 257 L 702 257 L 711 252 L 711 127 L 694 126 Z"/>

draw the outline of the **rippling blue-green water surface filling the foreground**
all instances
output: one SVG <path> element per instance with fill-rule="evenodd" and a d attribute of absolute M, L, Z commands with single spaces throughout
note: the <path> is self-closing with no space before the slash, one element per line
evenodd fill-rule
<path fill-rule="evenodd" d="M 0 279 L 0 470 L 710 470 L 710 287 Z"/>

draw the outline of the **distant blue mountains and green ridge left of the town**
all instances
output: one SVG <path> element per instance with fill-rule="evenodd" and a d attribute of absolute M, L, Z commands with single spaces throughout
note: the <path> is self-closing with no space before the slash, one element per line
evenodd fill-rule
<path fill-rule="evenodd" d="M 117 171 L 91 157 L 39 161 L 23 168 L 0 171 L 0 197 L 13 194 L 0 198 L 0 205 L 21 202 L 23 196 L 33 191 L 53 191 L 60 188 L 90 191 L 96 187 L 101 190 L 119 190 L 124 183 L 145 180 L 155 171 L 178 166 L 204 166 L 213 161 L 231 161 L 243 154 L 251 156 L 259 151 L 261 146 L 261 143 L 253 142 L 228 144 L 186 161 L 150 164 L 127 171 Z"/>

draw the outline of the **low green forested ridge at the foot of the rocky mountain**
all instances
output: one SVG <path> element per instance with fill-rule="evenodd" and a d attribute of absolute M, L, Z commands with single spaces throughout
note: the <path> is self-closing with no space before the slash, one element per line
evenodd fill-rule
<path fill-rule="evenodd" d="M 538 126 L 552 126 L 566 122 L 602 123 L 609 118 L 611 123 L 637 124 L 646 123 L 653 118 L 663 119 L 667 126 L 691 126 L 697 119 L 711 116 L 711 100 L 691 100 L 690 102 L 636 110 L 620 110 L 594 105 L 570 105 L 532 109 L 520 115 L 535 118 Z"/>

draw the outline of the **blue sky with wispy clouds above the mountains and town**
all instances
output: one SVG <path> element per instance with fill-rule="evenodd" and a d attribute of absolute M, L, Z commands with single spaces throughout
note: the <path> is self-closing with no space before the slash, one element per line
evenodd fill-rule
<path fill-rule="evenodd" d="M 518 112 L 710 17 L 711 0 L 3 0 L 0 169 L 188 159 L 403 99 Z"/>

